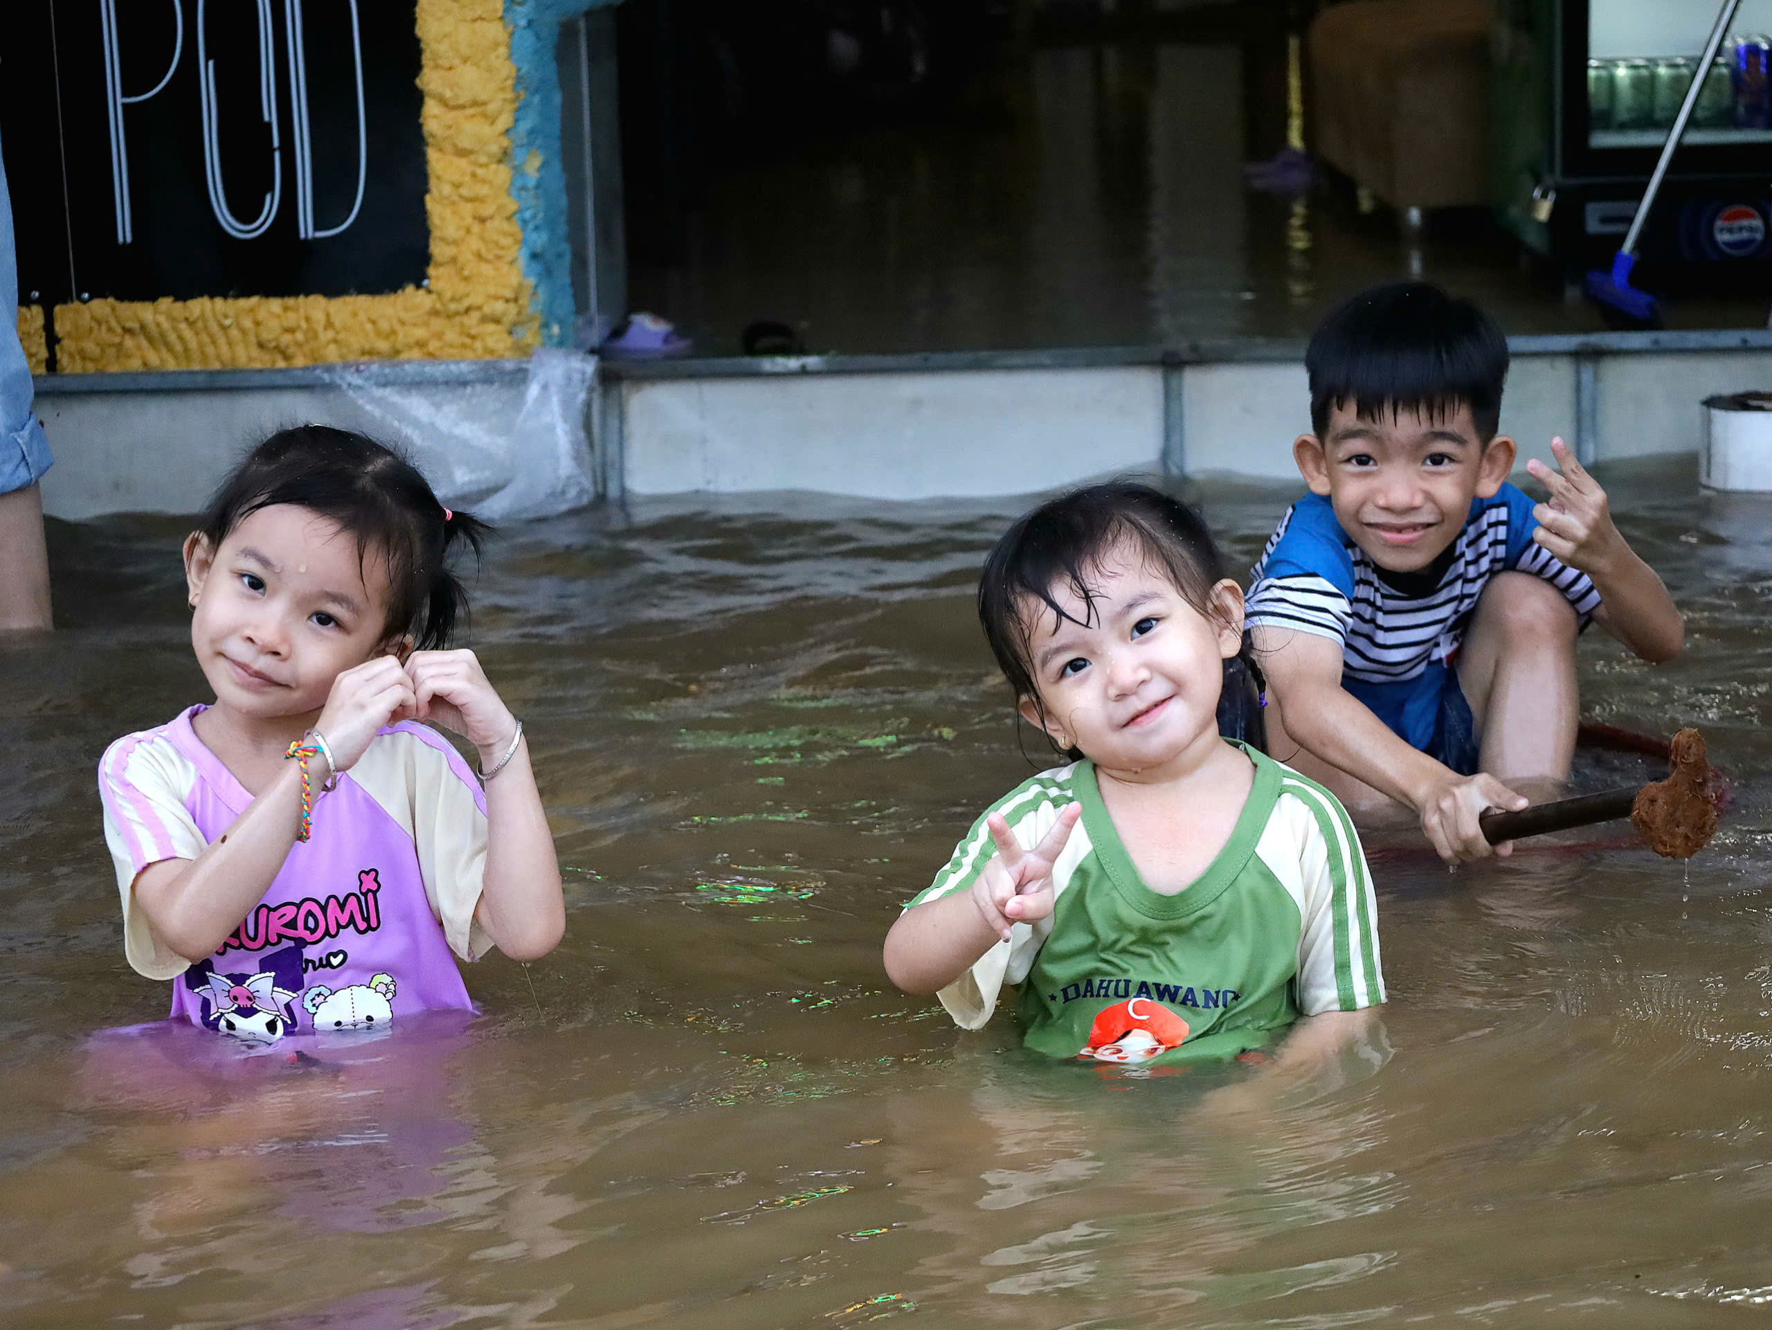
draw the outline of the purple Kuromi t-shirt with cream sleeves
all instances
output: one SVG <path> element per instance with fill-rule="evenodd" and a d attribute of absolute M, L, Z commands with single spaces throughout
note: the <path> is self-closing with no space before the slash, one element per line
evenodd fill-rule
<path fill-rule="evenodd" d="M 124 956 L 172 979 L 172 1016 L 245 1043 L 385 1029 L 400 1013 L 471 1007 L 455 958 L 491 938 L 475 922 L 486 796 L 443 736 L 383 729 L 314 805 L 264 899 L 195 965 L 156 945 L 135 908 L 149 864 L 197 858 L 252 803 L 191 729 L 193 706 L 105 750 L 105 841 L 122 894 Z"/>

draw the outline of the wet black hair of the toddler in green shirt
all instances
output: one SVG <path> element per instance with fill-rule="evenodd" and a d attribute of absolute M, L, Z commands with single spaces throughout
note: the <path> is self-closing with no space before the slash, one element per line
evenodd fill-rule
<path fill-rule="evenodd" d="M 1069 587 L 1093 615 L 1092 575 L 1120 541 L 1132 541 L 1189 605 L 1212 614 L 1210 592 L 1224 580 L 1224 560 L 1187 504 L 1136 481 L 1092 484 L 1051 498 L 1003 532 L 978 578 L 978 622 L 1017 699 L 1031 697 L 1040 706 L 1033 679 L 1033 631 L 1042 617 L 1037 606 L 1045 605 L 1054 624 L 1070 617 L 1053 598 L 1053 587 Z M 1263 686 L 1247 633 L 1239 658 Z"/>

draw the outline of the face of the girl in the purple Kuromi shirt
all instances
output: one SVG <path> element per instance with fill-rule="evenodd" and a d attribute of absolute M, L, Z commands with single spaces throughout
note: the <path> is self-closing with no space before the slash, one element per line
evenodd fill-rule
<path fill-rule="evenodd" d="M 392 645 L 386 564 L 305 507 L 262 507 L 220 550 L 193 534 L 184 575 L 197 663 L 243 716 L 319 711 L 342 670 Z"/>

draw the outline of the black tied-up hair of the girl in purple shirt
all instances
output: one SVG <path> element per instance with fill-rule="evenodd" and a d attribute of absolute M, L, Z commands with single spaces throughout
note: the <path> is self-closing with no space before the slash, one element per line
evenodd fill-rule
<path fill-rule="evenodd" d="M 246 454 L 197 520 L 211 550 L 262 507 L 294 504 L 356 537 L 358 557 L 388 562 L 390 638 L 411 633 L 418 651 L 448 645 L 468 592 L 447 566 L 466 541 L 475 557 L 491 536 L 478 518 L 448 512 L 418 468 L 393 449 L 331 426 L 278 429 Z"/>

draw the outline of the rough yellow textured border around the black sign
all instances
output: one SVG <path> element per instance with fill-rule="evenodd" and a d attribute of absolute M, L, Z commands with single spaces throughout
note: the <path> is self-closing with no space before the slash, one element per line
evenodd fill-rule
<path fill-rule="evenodd" d="M 418 0 L 429 287 L 386 296 L 92 300 L 55 307 L 57 367 L 275 369 L 337 360 L 477 360 L 540 342 L 510 197 L 516 69 L 501 0 Z M 19 310 L 41 371 L 43 310 Z"/>

